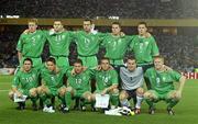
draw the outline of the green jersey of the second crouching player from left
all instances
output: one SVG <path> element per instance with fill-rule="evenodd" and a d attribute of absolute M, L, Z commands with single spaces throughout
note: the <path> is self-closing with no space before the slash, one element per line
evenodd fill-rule
<path fill-rule="evenodd" d="M 58 89 L 64 86 L 65 68 L 58 68 L 58 71 L 50 71 L 46 67 L 41 70 L 41 77 L 45 86 L 50 89 Z"/>

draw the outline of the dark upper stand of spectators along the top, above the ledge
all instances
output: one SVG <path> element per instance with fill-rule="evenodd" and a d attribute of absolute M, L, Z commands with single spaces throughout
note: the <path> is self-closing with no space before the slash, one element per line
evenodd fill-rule
<path fill-rule="evenodd" d="M 133 19 L 198 18 L 196 0 L 190 0 L 190 2 L 145 0 L 143 4 L 140 0 L 130 0 L 130 2 L 128 0 L 56 0 L 56 2 L 53 0 L 1 0 L 0 3 L 2 15 L 20 15 L 21 18 L 96 18 L 96 15 Z"/>

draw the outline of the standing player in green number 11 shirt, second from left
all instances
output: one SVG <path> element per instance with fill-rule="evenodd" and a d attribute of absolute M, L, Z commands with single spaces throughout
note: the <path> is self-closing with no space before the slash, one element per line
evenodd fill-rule
<path fill-rule="evenodd" d="M 54 21 L 53 29 L 46 31 L 46 37 L 50 46 L 50 54 L 56 59 L 56 65 L 58 67 L 68 67 L 72 37 L 69 31 L 65 31 L 61 20 Z"/>

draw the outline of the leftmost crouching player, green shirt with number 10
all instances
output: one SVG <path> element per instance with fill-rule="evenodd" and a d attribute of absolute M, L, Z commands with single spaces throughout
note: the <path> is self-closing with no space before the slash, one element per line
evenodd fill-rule
<path fill-rule="evenodd" d="M 23 60 L 22 67 L 16 71 L 13 82 L 12 90 L 9 92 L 9 97 L 11 100 L 14 100 L 14 95 L 18 98 L 22 98 L 23 95 L 28 95 L 28 99 L 31 99 L 33 110 L 37 110 L 36 100 L 37 100 L 37 91 L 36 88 L 38 86 L 38 71 L 32 68 L 32 59 L 25 58 Z M 19 102 L 19 110 L 24 110 L 25 101 Z"/>

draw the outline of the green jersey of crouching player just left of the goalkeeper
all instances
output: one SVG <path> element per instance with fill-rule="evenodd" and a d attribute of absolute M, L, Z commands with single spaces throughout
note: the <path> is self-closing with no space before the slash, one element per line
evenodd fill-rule
<path fill-rule="evenodd" d="M 95 71 L 97 90 L 102 91 L 108 87 L 118 84 L 118 74 L 114 69 L 111 70 L 96 70 Z"/>

